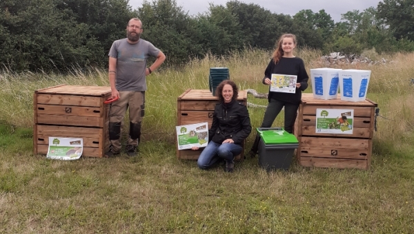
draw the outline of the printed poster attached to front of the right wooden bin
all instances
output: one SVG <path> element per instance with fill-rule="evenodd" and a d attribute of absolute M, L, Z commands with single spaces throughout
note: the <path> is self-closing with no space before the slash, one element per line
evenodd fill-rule
<path fill-rule="evenodd" d="M 353 134 L 353 109 L 316 109 L 317 134 Z"/>

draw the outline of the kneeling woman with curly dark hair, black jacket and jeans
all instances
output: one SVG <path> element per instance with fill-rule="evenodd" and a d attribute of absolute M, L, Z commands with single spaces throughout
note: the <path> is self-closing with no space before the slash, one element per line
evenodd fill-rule
<path fill-rule="evenodd" d="M 242 153 L 243 141 L 252 131 L 247 107 L 236 101 L 237 94 L 237 85 L 233 81 L 222 81 L 217 86 L 219 103 L 215 106 L 213 124 L 208 131 L 208 145 L 197 161 L 200 169 L 208 169 L 222 158 L 226 161 L 224 170 L 233 172 L 233 160 Z"/>

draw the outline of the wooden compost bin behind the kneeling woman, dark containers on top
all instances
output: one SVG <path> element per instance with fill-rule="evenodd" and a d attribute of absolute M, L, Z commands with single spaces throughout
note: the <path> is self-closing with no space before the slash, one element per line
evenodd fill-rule
<path fill-rule="evenodd" d="M 247 92 L 239 90 L 237 101 L 247 105 Z M 177 126 L 207 122 L 210 128 L 217 102 L 218 98 L 213 96 L 208 89 L 187 89 L 177 98 Z M 235 156 L 235 160 L 244 160 L 244 145 L 242 147 L 242 153 Z M 200 153 L 201 150 L 179 150 L 177 145 L 177 158 L 179 159 L 197 160 Z"/>

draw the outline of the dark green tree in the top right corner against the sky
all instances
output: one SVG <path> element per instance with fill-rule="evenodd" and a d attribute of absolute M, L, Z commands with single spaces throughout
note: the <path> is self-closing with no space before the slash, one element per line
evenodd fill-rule
<path fill-rule="evenodd" d="M 414 41 L 414 0 L 384 0 L 377 6 L 378 19 L 384 19 L 397 39 Z"/>

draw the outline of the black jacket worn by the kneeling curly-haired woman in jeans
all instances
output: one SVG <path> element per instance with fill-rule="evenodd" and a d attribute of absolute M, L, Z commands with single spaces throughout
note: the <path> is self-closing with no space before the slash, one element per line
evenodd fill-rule
<path fill-rule="evenodd" d="M 250 117 L 245 105 L 236 100 L 230 103 L 218 103 L 213 114 L 213 124 L 208 131 L 208 141 L 221 144 L 232 139 L 235 144 L 242 145 L 244 139 L 252 131 Z"/>

